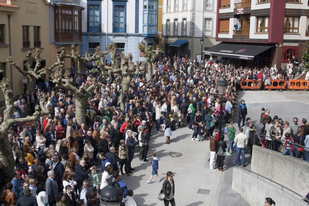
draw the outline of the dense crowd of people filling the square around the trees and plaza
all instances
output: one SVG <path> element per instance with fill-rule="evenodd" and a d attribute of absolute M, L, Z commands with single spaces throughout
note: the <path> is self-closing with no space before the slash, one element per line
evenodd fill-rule
<path fill-rule="evenodd" d="M 139 66 L 138 62 L 134 64 Z M 259 134 L 263 147 L 277 151 L 280 148 L 280 144 L 275 140 L 264 141 L 265 138 L 261 135 L 265 130 L 261 131 L 258 124 L 252 125 L 250 118 L 246 118 L 244 100 L 241 100 L 238 107 L 239 127 L 243 120 L 243 127 L 239 128 L 239 132 L 249 137 L 249 143 L 243 144 L 243 137 L 235 137 L 231 119 L 234 108 L 237 108 L 236 90 L 241 79 L 262 78 L 266 82 L 269 75 L 272 78 L 287 78 L 293 73 L 291 65 L 288 65 L 288 69 L 276 69 L 274 66 L 271 69 L 266 66 L 264 69 L 236 69 L 234 65 L 219 63 L 211 56 L 199 62 L 188 57 L 175 55 L 169 58 L 161 55 L 152 66 L 151 80 L 146 81 L 146 72 L 135 74 L 130 89 L 123 91 L 120 98 L 121 78 L 118 74 L 103 76 L 85 71 L 83 75 L 77 75 L 72 65 L 72 83 L 76 88 L 91 84 L 93 77 L 98 81 L 98 85 L 89 92 L 85 110 L 86 121 L 80 124 L 74 112 L 74 94 L 54 85 L 49 77 L 36 85 L 36 91 L 25 91 L 24 95 L 20 95 L 14 103 L 15 112 L 11 118 L 32 115 L 35 105 L 39 103 L 37 92 L 44 92 L 45 105 L 50 105 L 52 112 L 40 120 L 15 124 L 10 129 L 8 140 L 11 142 L 16 164 L 11 183 L 6 183 L 4 176 L 11 174 L 4 174 L 3 165 L 0 163 L 0 186 L 4 205 L 98 205 L 99 191 L 108 185 L 110 179 L 115 180 L 123 189 L 125 205 L 136 205 L 133 191 L 126 188 L 120 175 L 129 176 L 134 173 L 131 162 L 137 147 L 139 160 L 150 160 L 147 156 L 154 132 L 163 132 L 166 137 L 165 144 L 169 145 L 172 144 L 172 132 L 188 126 L 188 129 L 193 131 L 192 141 L 210 141 L 211 170 L 215 170 L 212 163 L 216 153 L 218 170 L 223 171 L 225 154 L 231 155 L 234 148 L 238 155 L 239 152 L 243 154 L 243 149 L 239 148 L 254 144 L 253 131 Z M 216 130 L 221 110 L 217 85 L 220 79 L 226 80 L 228 85 L 226 94 L 223 94 L 222 107 L 222 120 L 227 124 L 228 145 L 224 136 L 219 137 Z M 3 118 L 0 117 L 0 124 L 2 121 Z M 302 119 L 300 128 L 303 130 L 296 129 L 296 132 L 294 127 L 288 132 L 289 123 L 278 117 L 270 118 L 265 115 L 260 124 L 269 130 L 269 133 L 266 130 L 266 136 L 280 137 L 278 140 L 285 137 L 283 154 L 288 151 L 290 155 L 294 155 L 298 148 L 290 145 L 293 141 L 302 145 L 306 142 L 309 147 L 309 136 L 306 137 L 309 127 L 305 125 L 306 122 L 307 120 Z M 288 134 L 293 138 L 290 139 Z M 233 142 L 237 147 L 233 146 Z M 309 150 L 305 151 L 309 155 Z M 305 159 L 304 153 L 299 152 L 296 156 Z M 155 181 L 160 181 L 156 153 L 151 153 L 151 158 L 152 173 L 147 183 L 152 182 L 154 175 Z M 238 161 L 237 157 L 236 159 Z M 309 161 L 309 158 L 307 160 Z M 100 169 L 95 166 L 99 161 Z M 102 172 L 101 180 L 97 172 Z M 174 190 L 173 173 L 168 171 L 163 182 L 165 205 L 175 205 Z"/>

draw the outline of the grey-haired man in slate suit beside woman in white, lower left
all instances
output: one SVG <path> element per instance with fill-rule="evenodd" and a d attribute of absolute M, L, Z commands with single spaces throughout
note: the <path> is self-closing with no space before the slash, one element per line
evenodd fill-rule
<path fill-rule="evenodd" d="M 61 164 L 61 163 L 60 163 Z M 62 164 L 61 164 L 62 165 Z M 53 170 L 49 170 L 47 172 L 48 178 L 45 182 L 45 191 L 48 195 L 48 202 L 50 205 L 56 204 L 57 198 L 58 198 L 58 184 L 54 180 L 55 178 L 55 172 Z"/>

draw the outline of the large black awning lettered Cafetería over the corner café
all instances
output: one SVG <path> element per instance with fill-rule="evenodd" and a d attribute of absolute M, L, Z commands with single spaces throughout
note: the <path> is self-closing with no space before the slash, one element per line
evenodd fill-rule
<path fill-rule="evenodd" d="M 219 57 L 229 57 L 234 59 L 253 60 L 253 58 L 273 47 L 273 45 L 254 45 L 254 44 L 227 44 L 220 43 L 206 51 L 203 54 Z"/>

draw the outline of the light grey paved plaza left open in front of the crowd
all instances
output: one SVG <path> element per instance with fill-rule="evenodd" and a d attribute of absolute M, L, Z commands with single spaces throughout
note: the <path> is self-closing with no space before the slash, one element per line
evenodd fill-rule
<path fill-rule="evenodd" d="M 248 107 L 248 116 L 252 122 L 259 121 L 261 108 L 270 110 L 270 116 L 278 115 L 283 120 L 292 122 L 294 116 L 301 119 L 309 117 L 309 92 L 290 91 L 241 91 L 236 99 L 245 99 Z M 238 103 L 238 102 L 237 102 Z M 237 105 L 236 105 L 237 106 Z M 235 109 L 237 111 L 237 109 Z M 235 112 L 233 126 L 237 131 L 238 113 Z M 222 127 L 224 127 L 223 124 Z M 219 205 L 244 206 L 248 205 L 232 190 L 232 171 L 234 168 L 232 156 L 226 156 L 224 172 L 210 171 L 209 169 L 209 141 L 191 141 L 193 131 L 180 128 L 172 132 L 171 144 L 165 144 L 163 133 L 156 133 L 151 137 L 150 153 L 156 152 L 159 158 L 159 177 L 161 182 L 146 183 L 151 174 L 151 164 L 138 160 L 138 147 L 132 162 L 135 168 L 133 175 L 121 179 L 133 189 L 134 200 L 138 205 L 164 205 L 157 196 L 162 187 L 167 171 L 174 173 L 175 201 L 179 206 Z M 236 132 L 238 133 L 238 131 Z M 226 137 L 227 140 L 227 137 Z M 181 156 L 171 153 L 180 153 Z M 179 157 L 178 157 L 179 156 Z M 246 154 L 245 163 L 250 169 L 251 158 Z M 155 180 L 155 177 L 154 179 Z M 209 190 L 209 194 L 197 194 L 199 189 Z"/>

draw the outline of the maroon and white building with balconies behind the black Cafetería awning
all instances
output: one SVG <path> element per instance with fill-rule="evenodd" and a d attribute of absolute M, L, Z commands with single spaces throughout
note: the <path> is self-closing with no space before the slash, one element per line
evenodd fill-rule
<path fill-rule="evenodd" d="M 280 68 L 292 56 L 301 63 L 305 41 L 309 39 L 307 0 L 218 0 L 217 21 L 216 40 L 225 43 L 225 49 L 220 54 L 216 48 L 210 48 L 205 51 L 206 56 L 223 55 L 223 60 L 230 63 L 259 67 L 276 65 Z M 248 46 L 247 51 L 257 47 L 265 50 L 248 57 L 239 56 L 233 49 L 238 45 L 239 48 Z M 236 53 L 239 51 L 247 52 L 240 49 Z"/>

